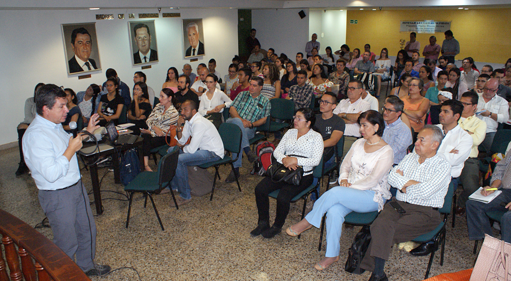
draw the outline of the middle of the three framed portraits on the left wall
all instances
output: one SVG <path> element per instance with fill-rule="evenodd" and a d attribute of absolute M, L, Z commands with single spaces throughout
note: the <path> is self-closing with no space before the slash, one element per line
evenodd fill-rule
<path fill-rule="evenodd" d="M 154 20 L 128 22 L 133 65 L 158 61 Z"/>

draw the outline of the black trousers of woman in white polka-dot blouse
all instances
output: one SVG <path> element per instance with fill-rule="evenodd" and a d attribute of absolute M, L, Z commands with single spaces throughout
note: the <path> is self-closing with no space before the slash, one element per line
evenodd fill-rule
<path fill-rule="evenodd" d="M 275 222 L 273 226 L 282 228 L 286 217 L 289 213 L 290 201 L 298 193 L 309 187 L 314 180 L 312 174 L 303 176 L 299 186 L 290 185 L 286 183 L 273 183 L 270 177 L 265 177 L 255 187 L 255 203 L 259 213 L 259 221 L 266 221 L 269 224 L 270 221 L 270 200 L 268 194 L 280 189 L 277 196 L 277 210 L 275 215 Z"/>

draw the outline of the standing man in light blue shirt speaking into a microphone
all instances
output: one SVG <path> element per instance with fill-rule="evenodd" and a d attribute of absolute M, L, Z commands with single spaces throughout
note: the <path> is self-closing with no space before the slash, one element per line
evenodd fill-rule
<path fill-rule="evenodd" d="M 83 137 L 67 134 L 61 124 L 69 112 L 65 95 L 53 84 L 37 91 L 37 114 L 22 140 L 25 163 L 39 189 L 39 202 L 52 227 L 55 245 L 71 259 L 76 254 L 76 264 L 87 276 L 103 275 L 110 267 L 94 264 L 96 223 L 76 157 Z M 90 117 L 89 133 L 98 129 L 98 117 Z"/>

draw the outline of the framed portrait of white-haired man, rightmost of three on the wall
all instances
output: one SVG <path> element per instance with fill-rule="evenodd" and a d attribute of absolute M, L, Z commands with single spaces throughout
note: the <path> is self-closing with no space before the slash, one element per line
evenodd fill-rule
<path fill-rule="evenodd" d="M 204 56 L 202 18 L 183 19 L 182 26 L 184 57 Z"/>

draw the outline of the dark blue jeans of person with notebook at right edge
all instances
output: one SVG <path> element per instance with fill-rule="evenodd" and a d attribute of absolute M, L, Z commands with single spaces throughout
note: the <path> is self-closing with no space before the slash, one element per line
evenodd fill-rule
<path fill-rule="evenodd" d="M 482 240 L 484 234 L 493 236 L 490 218 L 486 216 L 488 211 L 506 211 L 500 206 L 500 203 L 511 202 L 511 190 L 503 189 L 502 193 L 493 199 L 490 203 L 483 203 L 476 200 L 467 200 L 467 226 L 469 228 L 470 240 Z M 500 220 L 501 240 L 511 243 L 511 211 L 507 211 Z"/>

